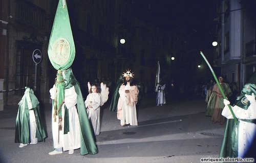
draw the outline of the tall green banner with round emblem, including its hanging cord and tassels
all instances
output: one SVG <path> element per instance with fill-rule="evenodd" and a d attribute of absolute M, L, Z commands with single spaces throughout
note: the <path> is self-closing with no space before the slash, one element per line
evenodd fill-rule
<path fill-rule="evenodd" d="M 53 67 L 58 70 L 55 79 L 57 91 L 54 100 L 54 121 L 56 121 L 56 115 L 59 115 L 59 122 L 61 122 L 61 106 L 65 98 L 65 82 L 62 71 L 68 69 L 75 58 L 75 43 L 66 0 L 59 0 L 58 3 L 48 45 L 48 56 Z M 59 130 L 62 130 L 61 123 Z"/>

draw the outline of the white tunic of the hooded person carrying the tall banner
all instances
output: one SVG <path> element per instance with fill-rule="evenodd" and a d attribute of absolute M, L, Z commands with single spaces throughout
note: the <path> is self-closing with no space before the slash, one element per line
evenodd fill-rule
<path fill-rule="evenodd" d="M 55 87 L 50 89 L 51 99 L 55 97 Z M 80 124 L 79 117 L 76 109 L 76 98 L 77 94 L 75 87 L 65 89 L 65 100 L 61 108 L 62 116 L 62 130 L 58 131 L 58 115 L 56 115 L 56 122 L 52 118 L 52 134 L 53 134 L 53 144 L 54 148 L 63 148 L 63 151 L 74 150 L 80 148 Z M 69 110 L 69 132 L 64 134 L 64 117 L 66 106 Z M 54 109 L 52 109 L 52 116 Z"/>

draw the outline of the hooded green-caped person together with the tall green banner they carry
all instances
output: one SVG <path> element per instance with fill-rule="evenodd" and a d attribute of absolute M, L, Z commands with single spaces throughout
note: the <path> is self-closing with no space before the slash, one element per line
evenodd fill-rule
<path fill-rule="evenodd" d="M 53 67 L 57 69 L 55 84 L 50 89 L 53 99 L 54 150 L 49 154 L 60 154 L 62 151 L 73 154 L 78 148 L 81 155 L 98 153 L 80 85 L 71 68 L 75 58 L 75 44 L 65 0 L 59 0 L 58 3 L 48 56 Z"/>

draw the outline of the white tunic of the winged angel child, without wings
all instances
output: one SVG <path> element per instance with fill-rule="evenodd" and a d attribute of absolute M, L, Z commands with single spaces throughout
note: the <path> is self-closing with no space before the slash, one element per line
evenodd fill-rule
<path fill-rule="evenodd" d="M 100 106 L 101 106 L 102 98 L 99 93 L 91 93 L 87 96 L 86 104 L 88 118 L 92 123 L 92 127 L 94 130 L 94 134 L 98 135 L 100 133 Z M 88 106 L 91 105 L 92 108 Z"/>

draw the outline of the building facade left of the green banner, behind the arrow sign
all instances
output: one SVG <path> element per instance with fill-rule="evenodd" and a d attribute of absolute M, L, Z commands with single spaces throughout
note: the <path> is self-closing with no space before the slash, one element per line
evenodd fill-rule
<path fill-rule="evenodd" d="M 54 5 L 51 1 L 3 0 L 0 6 L 0 90 L 6 90 L 0 93 L 3 110 L 4 105 L 17 104 L 25 86 L 32 87 L 41 99 L 46 99 L 47 49 Z M 33 59 L 34 51 L 35 59 L 39 59 L 37 63 Z"/>

